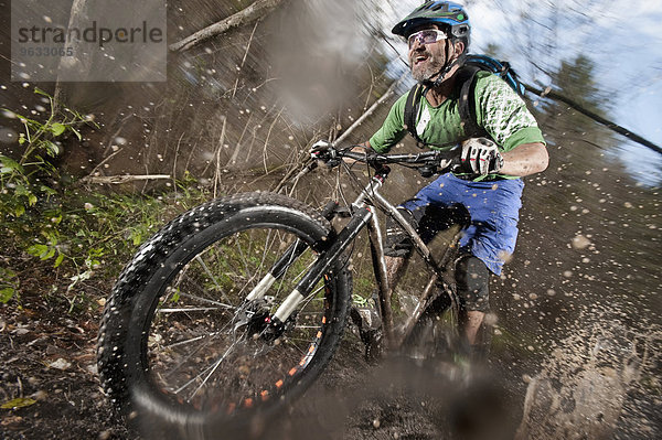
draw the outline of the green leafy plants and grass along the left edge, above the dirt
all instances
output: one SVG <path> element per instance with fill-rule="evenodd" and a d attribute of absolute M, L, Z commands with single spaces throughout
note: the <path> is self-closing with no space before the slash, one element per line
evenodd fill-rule
<path fill-rule="evenodd" d="M 39 89 L 35 93 L 46 96 L 53 108 L 51 96 Z M 44 294 L 60 291 L 73 310 L 84 302 L 81 283 L 116 275 L 170 211 L 199 204 L 199 197 L 204 197 L 193 189 L 195 181 L 190 176 L 178 184 L 171 204 L 161 196 L 79 191 L 61 178 L 53 159 L 67 140 L 82 139 L 79 128 L 89 118 L 71 109 L 64 115 L 51 110 L 45 121 L 7 109 L 4 114 L 15 116 L 24 132 L 19 138 L 20 158 L 0 155 L 0 221 L 6 226 L 0 246 L 11 257 L 9 265 L 3 265 L 8 268 L 0 268 L 0 302 L 20 301 L 21 279 L 34 278 L 39 267 L 50 267 L 55 276 L 49 269 L 53 285 L 43 289 Z"/>

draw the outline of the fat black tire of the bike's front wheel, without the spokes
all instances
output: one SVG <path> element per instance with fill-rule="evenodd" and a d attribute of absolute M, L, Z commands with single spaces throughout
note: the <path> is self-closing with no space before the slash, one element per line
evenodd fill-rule
<path fill-rule="evenodd" d="M 287 230 L 313 249 L 323 247 L 334 234 L 317 211 L 293 198 L 273 193 L 237 194 L 180 215 L 142 245 L 124 269 L 105 305 L 97 342 L 102 387 L 121 415 L 151 412 L 149 417 L 177 426 L 177 437 L 186 437 L 184 431 L 199 437 L 214 432 L 220 423 L 249 419 L 237 414 L 278 410 L 301 395 L 328 365 L 345 328 L 352 290 L 351 271 L 341 261 L 335 261 L 325 275 L 324 302 L 329 305 L 317 351 L 300 371 L 286 377 L 274 398 L 228 416 L 227 411 L 197 411 L 178 405 L 151 385 L 147 333 L 166 286 L 217 237 L 256 225 Z"/>

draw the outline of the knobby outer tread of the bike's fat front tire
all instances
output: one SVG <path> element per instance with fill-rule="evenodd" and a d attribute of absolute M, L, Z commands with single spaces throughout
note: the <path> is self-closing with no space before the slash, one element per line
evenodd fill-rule
<path fill-rule="evenodd" d="M 141 292 L 141 287 L 157 266 L 182 243 L 212 225 L 227 221 L 242 210 L 259 206 L 290 210 L 290 214 L 302 216 L 307 222 L 313 223 L 322 239 L 333 234 L 330 223 L 314 208 L 285 195 L 253 192 L 217 198 L 183 213 L 140 246 L 110 292 L 103 312 L 97 339 L 97 363 L 102 388 L 120 414 L 130 410 L 130 406 L 127 407 L 127 403 L 130 401 L 130 390 L 125 372 L 127 362 L 125 361 L 124 344 L 134 297 Z M 351 297 L 351 271 L 344 267 L 338 268 L 334 283 L 338 296 L 334 305 L 334 321 L 337 322 L 330 326 L 329 336 L 325 336 L 329 344 L 324 350 L 328 353 L 320 353 L 319 361 L 316 359 L 318 362 L 311 363 L 310 374 L 307 373 L 297 386 L 292 387 L 292 397 L 302 393 L 310 385 L 309 383 L 321 373 L 340 344 L 346 322 L 348 301 Z"/>

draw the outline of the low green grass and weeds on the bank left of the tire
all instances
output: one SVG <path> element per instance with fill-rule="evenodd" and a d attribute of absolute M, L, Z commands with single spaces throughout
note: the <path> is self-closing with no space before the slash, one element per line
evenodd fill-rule
<path fill-rule="evenodd" d="M 138 246 L 178 213 L 206 201 L 206 193 L 189 190 L 185 200 L 166 194 L 102 194 L 64 190 L 39 200 L 20 216 L 1 211 L 7 233 L 0 237 L 3 268 L 0 302 L 21 305 L 25 290 L 60 296 L 70 311 L 94 300 L 84 286 L 108 285 Z M 53 276 L 54 273 L 54 276 Z M 109 290 L 109 288 L 108 288 Z"/>

